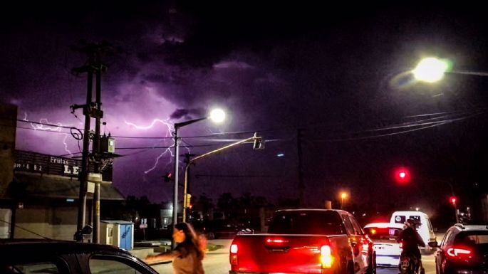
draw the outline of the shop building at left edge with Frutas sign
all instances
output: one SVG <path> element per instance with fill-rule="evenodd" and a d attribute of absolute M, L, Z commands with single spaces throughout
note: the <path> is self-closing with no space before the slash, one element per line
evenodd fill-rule
<path fill-rule="evenodd" d="M 16 150 L 16 107 L 0 105 L 0 117 L 0 238 L 73 240 L 81 160 Z M 102 176 L 100 208 L 120 204 L 124 197 L 112 184 L 111 165 Z M 87 194 L 87 223 L 92 196 Z"/>

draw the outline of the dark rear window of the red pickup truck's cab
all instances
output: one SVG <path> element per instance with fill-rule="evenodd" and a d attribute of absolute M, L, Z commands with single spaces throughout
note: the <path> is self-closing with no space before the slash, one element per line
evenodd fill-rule
<path fill-rule="evenodd" d="M 283 212 L 273 218 L 269 233 L 343 234 L 341 218 L 333 211 Z"/>

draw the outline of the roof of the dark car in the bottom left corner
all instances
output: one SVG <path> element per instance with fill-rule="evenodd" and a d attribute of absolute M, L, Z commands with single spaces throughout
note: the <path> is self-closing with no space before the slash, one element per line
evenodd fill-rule
<path fill-rule="evenodd" d="M 29 256 L 33 254 L 47 256 L 66 253 L 92 253 L 94 251 L 100 253 L 128 253 L 115 246 L 98 243 L 44 239 L 0 239 L 0 258 L 16 255 L 25 256 L 26 251 L 30 254 Z"/>

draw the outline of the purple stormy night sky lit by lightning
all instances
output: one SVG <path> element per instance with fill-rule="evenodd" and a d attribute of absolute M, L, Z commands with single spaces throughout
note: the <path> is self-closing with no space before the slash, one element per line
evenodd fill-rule
<path fill-rule="evenodd" d="M 357 204 L 407 201 L 432 211 L 450 196 L 442 181 L 452 182 L 461 202 L 473 199 L 469 189 L 486 188 L 487 77 L 472 75 L 488 71 L 485 9 L 194 2 L 43 1 L 4 9 L 1 102 L 18 105 L 19 120 L 83 128 L 81 110 L 73 115 L 69 106 L 85 103 L 86 75 L 71 69 L 86 56 L 71 48 L 107 41 L 121 51 L 103 58 L 102 131 L 124 155 L 115 159 L 113 183 L 125 195 L 171 201 L 162 175 L 173 159 L 154 147 L 172 140 L 157 120 L 172 125 L 216 106 L 227 110 L 226 122 L 184 127 L 182 153 L 202 154 L 254 132 L 266 148 L 245 144 L 197 162 L 194 195 L 298 198 L 298 129 L 308 206 L 346 190 Z M 433 85 L 415 82 L 406 72 L 427 56 L 449 59 L 454 73 Z M 150 129 L 134 126 L 155 120 Z M 83 144 L 67 130 L 18 126 L 17 149 L 81 155 Z M 400 166 L 411 172 L 405 186 L 392 178 Z"/>

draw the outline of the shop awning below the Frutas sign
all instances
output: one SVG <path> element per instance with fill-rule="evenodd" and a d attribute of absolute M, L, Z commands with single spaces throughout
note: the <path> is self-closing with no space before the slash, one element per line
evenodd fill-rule
<path fill-rule="evenodd" d="M 80 181 L 76 178 L 36 174 L 30 172 L 16 172 L 14 181 L 8 189 L 11 198 L 26 199 L 28 197 L 45 197 L 61 199 L 78 199 Z M 87 199 L 93 195 L 88 193 Z M 124 196 L 115 189 L 111 182 L 100 183 L 100 200 L 125 200 Z"/>

